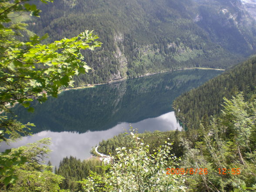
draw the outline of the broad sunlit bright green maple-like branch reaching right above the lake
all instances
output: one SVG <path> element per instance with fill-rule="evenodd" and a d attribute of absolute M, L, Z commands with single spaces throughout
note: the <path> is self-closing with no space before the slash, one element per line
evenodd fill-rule
<path fill-rule="evenodd" d="M 13 36 L 10 28 L 2 30 L 7 38 Z M 61 86 L 72 86 L 74 75 L 84 74 L 91 69 L 83 61 L 80 50 L 100 46 L 98 41 L 93 42 L 96 38 L 92 31 L 85 31 L 77 37 L 51 44 L 39 44 L 38 36 L 31 37 L 27 42 L 2 40 L 1 110 L 5 109 L 6 104 L 13 106 L 16 102 L 28 108 L 31 96 L 42 102 L 49 95 L 57 97 Z"/>

